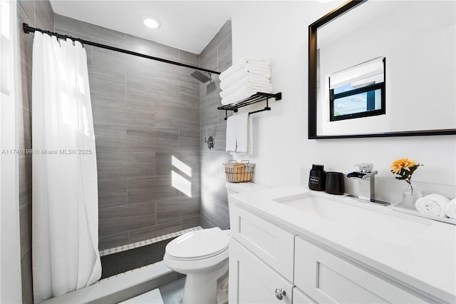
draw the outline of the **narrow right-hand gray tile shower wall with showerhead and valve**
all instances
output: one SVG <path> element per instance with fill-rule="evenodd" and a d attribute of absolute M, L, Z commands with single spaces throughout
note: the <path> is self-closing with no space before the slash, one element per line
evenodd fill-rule
<path fill-rule="evenodd" d="M 214 39 L 199 54 L 199 66 L 224 71 L 232 65 L 231 21 L 222 26 Z M 228 197 L 223 163 L 231 158 L 225 150 L 227 123 L 220 106 L 218 76 L 212 75 L 212 83 L 199 85 L 199 130 L 201 138 L 213 136 L 214 149 L 206 143 L 201 148 L 201 226 L 229 228 Z"/>

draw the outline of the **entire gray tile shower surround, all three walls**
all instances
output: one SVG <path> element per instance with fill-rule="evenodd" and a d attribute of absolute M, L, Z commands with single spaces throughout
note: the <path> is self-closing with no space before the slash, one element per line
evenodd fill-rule
<path fill-rule="evenodd" d="M 19 0 L 17 5 L 22 88 L 17 111 L 18 148 L 31 148 L 33 35 L 24 34 L 23 22 L 207 69 L 223 71 L 231 65 L 230 21 L 199 58 L 187 51 L 53 14 L 48 0 Z M 217 76 L 213 83 L 200 85 L 190 76 L 190 69 L 92 46 L 85 48 L 98 158 L 100 249 L 200 224 L 205 228 L 229 228 L 222 165 L 229 154 L 224 152 L 224 113 L 217 111 Z M 214 151 L 200 140 L 209 135 L 216 138 Z M 24 303 L 33 303 L 31 166 L 31 156 L 19 157 Z M 191 197 L 187 195 L 190 193 Z"/>

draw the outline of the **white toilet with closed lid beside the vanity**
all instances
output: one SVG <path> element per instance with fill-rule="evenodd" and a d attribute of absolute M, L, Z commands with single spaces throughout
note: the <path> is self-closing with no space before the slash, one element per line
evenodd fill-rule
<path fill-rule="evenodd" d="M 228 194 L 266 188 L 254 183 L 227 183 Z M 229 230 L 192 231 L 166 245 L 163 261 L 187 275 L 182 304 L 217 303 L 217 280 L 228 272 Z"/>

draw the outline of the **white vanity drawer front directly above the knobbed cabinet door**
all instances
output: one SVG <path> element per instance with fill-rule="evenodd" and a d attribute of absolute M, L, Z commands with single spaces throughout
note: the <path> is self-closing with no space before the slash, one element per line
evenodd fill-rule
<path fill-rule="evenodd" d="M 295 234 L 234 205 L 229 217 L 232 238 L 292 282 Z"/>

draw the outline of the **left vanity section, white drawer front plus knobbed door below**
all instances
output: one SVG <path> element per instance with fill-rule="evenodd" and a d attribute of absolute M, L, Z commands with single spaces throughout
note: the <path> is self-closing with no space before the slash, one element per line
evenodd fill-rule
<path fill-rule="evenodd" d="M 238 206 L 229 211 L 229 303 L 314 303 L 294 290 L 296 233 Z"/>

